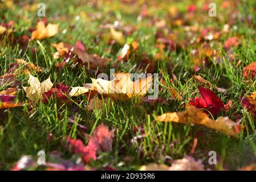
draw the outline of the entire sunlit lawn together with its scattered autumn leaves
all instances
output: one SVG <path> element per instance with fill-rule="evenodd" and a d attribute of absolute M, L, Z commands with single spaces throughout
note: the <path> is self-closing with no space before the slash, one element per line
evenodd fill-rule
<path fill-rule="evenodd" d="M 242 0 L 2 1 L 0 92 L 15 93 L 0 93 L 0 169 L 253 165 L 255 7 Z M 111 69 L 159 76 L 157 98 L 85 90 Z M 53 85 L 32 88 L 34 77 Z M 77 86 L 83 93 L 72 95 Z M 179 119 L 160 121 L 174 112 Z M 200 116 L 210 124 L 198 125 Z M 212 126 L 218 117 L 228 117 L 232 131 L 221 125 L 227 118 Z"/>

